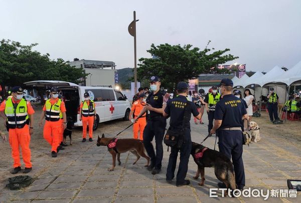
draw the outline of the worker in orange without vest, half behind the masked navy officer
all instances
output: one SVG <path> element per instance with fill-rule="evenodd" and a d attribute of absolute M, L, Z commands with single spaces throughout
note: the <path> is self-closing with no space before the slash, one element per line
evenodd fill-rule
<path fill-rule="evenodd" d="M 143 131 L 146 125 L 146 113 L 144 113 L 137 122 L 134 122 L 134 119 L 139 115 L 140 111 L 146 105 L 146 96 L 144 93 L 139 95 L 139 99 L 135 101 L 132 105 L 131 111 L 129 112 L 129 118 L 133 126 L 134 139 L 138 139 L 138 131 L 140 131 L 139 139 L 143 140 Z M 132 115 L 134 114 L 133 118 Z"/>

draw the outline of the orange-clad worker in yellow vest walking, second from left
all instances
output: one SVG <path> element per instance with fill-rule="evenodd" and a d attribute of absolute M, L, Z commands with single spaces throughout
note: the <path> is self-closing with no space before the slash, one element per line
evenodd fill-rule
<path fill-rule="evenodd" d="M 57 157 L 58 151 L 64 149 L 64 147 L 60 145 L 60 142 L 61 131 L 63 130 L 62 125 L 64 129 L 67 127 L 66 107 L 65 103 L 58 98 L 57 88 L 51 88 L 50 95 L 51 98 L 46 101 L 43 107 L 39 125 L 42 127 L 43 118 L 45 116 L 44 139 L 51 145 L 51 156 Z"/>

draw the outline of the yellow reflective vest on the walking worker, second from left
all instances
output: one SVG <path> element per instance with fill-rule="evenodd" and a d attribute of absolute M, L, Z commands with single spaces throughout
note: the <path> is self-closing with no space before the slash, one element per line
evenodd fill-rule
<path fill-rule="evenodd" d="M 45 107 L 46 107 L 45 119 L 48 121 L 58 121 L 61 118 L 63 118 L 63 114 L 61 112 L 61 104 L 62 104 L 61 99 L 58 99 L 58 101 L 53 105 L 51 105 L 50 99 L 48 99 L 45 103 Z"/>

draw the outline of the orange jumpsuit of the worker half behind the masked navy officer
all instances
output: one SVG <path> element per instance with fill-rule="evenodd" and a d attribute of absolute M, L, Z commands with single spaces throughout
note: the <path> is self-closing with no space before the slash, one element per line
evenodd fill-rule
<path fill-rule="evenodd" d="M 131 110 L 134 111 L 134 119 L 139 115 L 142 109 L 143 105 L 141 104 L 140 100 L 133 103 Z M 133 125 L 134 139 L 138 139 L 138 131 L 140 131 L 139 139 L 143 140 L 143 131 L 146 125 L 145 115 L 146 113 L 144 113 Z"/>

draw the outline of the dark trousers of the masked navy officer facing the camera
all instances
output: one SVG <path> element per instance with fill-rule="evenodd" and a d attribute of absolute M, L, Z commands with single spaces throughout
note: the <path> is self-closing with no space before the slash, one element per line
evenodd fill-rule
<path fill-rule="evenodd" d="M 150 157 L 151 164 L 155 163 L 155 168 L 161 169 L 163 159 L 163 138 L 166 128 L 166 119 L 148 120 L 143 131 L 143 144 Z M 155 137 L 156 153 L 152 141 Z"/>

